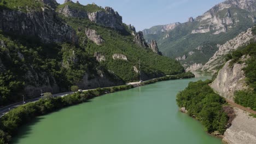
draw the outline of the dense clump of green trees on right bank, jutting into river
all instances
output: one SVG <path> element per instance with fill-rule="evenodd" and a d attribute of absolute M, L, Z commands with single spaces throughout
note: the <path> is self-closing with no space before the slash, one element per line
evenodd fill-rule
<path fill-rule="evenodd" d="M 208 86 L 211 82 L 190 82 L 184 91 L 178 93 L 177 104 L 179 107 L 185 107 L 189 116 L 198 119 L 208 133 L 219 131 L 220 134 L 224 134 L 229 121 L 228 113 L 225 111 L 226 101 Z"/>

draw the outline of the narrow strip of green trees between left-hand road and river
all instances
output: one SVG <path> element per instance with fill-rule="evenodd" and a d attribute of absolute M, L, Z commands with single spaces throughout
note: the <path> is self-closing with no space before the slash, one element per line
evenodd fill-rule
<path fill-rule="evenodd" d="M 142 82 L 140 85 L 136 86 L 148 85 L 150 83 L 155 83 L 164 80 L 188 79 L 192 77 L 194 77 L 194 75 L 191 73 L 179 74 L 174 76 L 165 76 L 160 77 L 158 79 Z M 37 116 L 46 115 L 47 113 L 54 112 L 56 110 L 62 109 L 63 107 L 84 103 L 89 99 L 98 97 L 100 95 L 124 91 L 133 87 L 135 86 L 125 85 L 110 88 L 97 88 L 95 90 L 86 91 L 82 93 L 75 93 L 67 95 L 65 97 L 40 99 L 35 103 L 29 103 L 24 106 L 19 106 L 16 109 L 9 111 L 6 115 L 4 115 L 1 118 L 0 141 L 2 143 L 8 143 L 10 141 L 11 136 L 17 134 L 17 131 L 21 125 L 31 122 L 31 120 Z"/>

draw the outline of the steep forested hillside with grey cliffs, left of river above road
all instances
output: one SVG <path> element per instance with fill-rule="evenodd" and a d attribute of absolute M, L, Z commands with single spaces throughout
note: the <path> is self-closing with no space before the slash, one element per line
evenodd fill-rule
<path fill-rule="evenodd" d="M 101 17 L 99 17 L 99 15 Z M 144 44 L 112 8 L 0 1 L 0 106 L 43 93 L 124 85 L 184 72 Z M 152 48 L 152 47 L 151 47 Z M 141 69 L 139 69 L 139 62 Z"/>

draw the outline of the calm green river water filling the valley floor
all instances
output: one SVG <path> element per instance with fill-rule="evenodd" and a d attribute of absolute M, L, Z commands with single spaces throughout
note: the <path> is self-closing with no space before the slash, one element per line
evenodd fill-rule
<path fill-rule="evenodd" d="M 222 143 L 178 111 L 176 94 L 197 80 L 158 82 L 62 109 L 25 125 L 13 143 Z"/>

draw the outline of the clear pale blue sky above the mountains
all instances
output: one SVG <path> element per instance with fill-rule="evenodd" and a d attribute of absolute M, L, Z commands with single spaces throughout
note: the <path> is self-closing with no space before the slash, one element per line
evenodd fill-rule
<path fill-rule="evenodd" d="M 63 3 L 65 0 L 57 0 Z M 76 2 L 76 0 L 72 0 Z M 112 7 L 123 16 L 123 22 L 143 30 L 156 25 L 185 22 L 190 16 L 205 13 L 224 0 L 80 0 L 81 4 L 92 2 L 102 7 Z"/>

